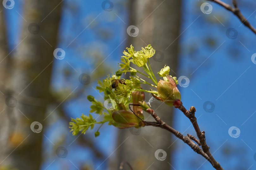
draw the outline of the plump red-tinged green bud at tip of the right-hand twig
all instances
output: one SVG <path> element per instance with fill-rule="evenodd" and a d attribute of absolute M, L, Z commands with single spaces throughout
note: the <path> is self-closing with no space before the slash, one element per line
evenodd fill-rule
<path fill-rule="evenodd" d="M 175 80 L 166 75 L 168 81 L 160 80 L 157 84 L 157 92 L 159 96 L 156 99 L 160 101 L 164 101 L 168 106 L 173 106 L 173 102 L 175 99 L 181 99 L 180 91 L 177 88 Z"/>

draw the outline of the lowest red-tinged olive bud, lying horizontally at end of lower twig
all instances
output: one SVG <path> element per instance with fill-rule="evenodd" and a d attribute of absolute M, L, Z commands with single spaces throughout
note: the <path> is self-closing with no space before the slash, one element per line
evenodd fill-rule
<path fill-rule="evenodd" d="M 115 121 L 115 123 L 117 123 L 117 125 L 115 123 L 113 123 L 113 125 L 120 129 L 129 127 L 139 127 L 140 122 L 142 122 L 139 118 L 137 118 L 137 116 L 126 110 L 114 111 L 112 114 L 112 118 Z"/>

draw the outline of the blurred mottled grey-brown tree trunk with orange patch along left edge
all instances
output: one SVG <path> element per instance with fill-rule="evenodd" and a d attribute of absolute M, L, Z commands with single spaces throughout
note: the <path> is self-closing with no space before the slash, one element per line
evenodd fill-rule
<path fill-rule="evenodd" d="M 30 125 L 37 121 L 44 129 L 47 122 L 44 119 L 49 102 L 53 51 L 57 44 L 60 2 L 24 0 L 20 44 L 9 56 L 7 47 L 2 46 L 7 42 L 4 11 L 0 13 L 0 59 L 7 56 L 0 64 L 1 69 L 5 68 L 0 72 L 1 91 L 4 93 L 0 94 L 0 111 L 5 109 L 0 115 L 0 169 L 8 166 L 19 170 L 40 169 L 44 130 L 34 133 Z M 7 70 L 6 63 L 10 58 L 12 62 Z"/>

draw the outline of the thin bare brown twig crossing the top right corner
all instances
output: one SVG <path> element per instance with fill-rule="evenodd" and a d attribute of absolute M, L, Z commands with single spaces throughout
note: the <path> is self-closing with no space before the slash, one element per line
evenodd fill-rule
<path fill-rule="evenodd" d="M 256 34 L 256 29 L 243 16 L 240 9 L 237 7 L 237 3 L 236 3 L 235 0 L 232 0 L 232 3 L 233 3 L 235 8 L 232 8 L 229 4 L 226 4 L 226 3 L 222 2 L 221 0 L 208 0 L 208 1 L 215 2 L 219 5 L 221 5 L 222 7 L 224 7 L 225 9 L 233 12 L 233 14 L 235 14 L 238 17 L 238 19 L 242 22 L 243 25 L 247 26 L 251 31 L 253 31 L 254 34 Z"/>

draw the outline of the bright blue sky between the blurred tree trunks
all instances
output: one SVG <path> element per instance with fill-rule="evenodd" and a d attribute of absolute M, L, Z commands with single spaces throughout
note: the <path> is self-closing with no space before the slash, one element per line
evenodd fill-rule
<path fill-rule="evenodd" d="M 129 25 L 127 9 L 123 4 L 125 1 L 113 0 L 112 2 L 114 8 L 110 12 L 102 9 L 102 1 L 65 0 L 63 2 L 60 38 L 56 48 L 64 49 L 66 56 L 63 60 L 54 60 L 53 89 L 69 88 L 72 91 L 77 86 L 82 87 L 78 81 L 79 75 L 90 74 L 95 69 L 91 65 L 92 59 L 84 54 L 82 49 L 93 48 L 94 45 L 100 47 L 99 51 L 103 51 L 104 55 L 108 56 L 106 62 L 112 64 L 112 71 L 118 69 L 117 63 L 119 63 L 121 52 L 125 48 L 126 28 Z M 180 36 L 181 52 L 176 76 L 186 76 L 190 83 L 186 88 L 178 85 L 182 102 L 187 109 L 190 106 L 196 107 L 199 127 L 201 131 L 206 132 L 206 142 L 210 146 L 210 151 L 214 153 L 213 156 L 222 167 L 225 169 L 255 169 L 256 160 L 253 156 L 256 153 L 254 131 L 256 127 L 256 114 L 254 114 L 256 111 L 256 64 L 251 60 L 251 56 L 256 53 L 255 35 L 247 27 L 241 25 L 241 22 L 232 13 L 215 3 L 208 2 L 212 5 L 213 10 L 210 14 L 204 14 L 200 10 L 200 5 L 204 2 L 183 1 L 180 32 L 185 29 L 186 31 Z M 22 19 L 16 11 L 22 15 L 21 4 L 21 1 L 15 1 L 13 9 L 5 10 L 10 50 L 20 40 L 18 25 L 21 24 Z M 255 2 L 252 0 L 243 2 L 241 12 L 246 18 L 249 17 L 248 20 L 252 25 L 256 26 L 256 13 L 252 6 L 255 6 Z M 226 31 L 229 28 L 234 28 L 237 31 L 235 39 L 227 37 Z M 105 39 L 99 37 L 95 30 L 110 31 L 111 37 Z M 78 34 L 80 35 L 76 38 Z M 215 45 L 207 45 L 205 43 L 207 39 L 214 40 Z M 72 40 L 74 41 L 72 42 Z M 72 43 L 70 44 L 70 42 Z M 195 52 L 189 51 L 190 47 L 195 48 Z M 72 76 L 68 79 L 63 75 L 65 68 L 69 68 L 72 72 Z M 91 83 L 90 86 L 95 88 L 96 84 Z M 87 92 L 100 99 L 101 96 L 92 87 L 88 87 Z M 212 109 L 210 112 L 203 108 L 207 101 L 214 105 L 214 109 L 210 108 L 210 105 L 206 107 Z M 82 113 L 88 114 L 90 106 L 90 102 L 86 99 L 77 99 L 64 104 L 70 117 L 79 117 Z M 54 115 L 52 118 L 57 120 Z M 190 121 L 182 112 L 175 110 L 174 128 L 181 133 L 190 133 L 196 136 L 190 125 Z M 237 138 L 232 138 L 228 133 L 229 128 L 233 126 L 240 129 L 240 135 Z M 103 164 L 101 164 L 102 160 L 94 161 L 95 158 L 90 149 L 79 147 L 76 142 L 70 144 L 76 139 L 76 136 L 69 133 L 68 125 L 63 120 L 57 120 L 50 124 L 44 133 L 54 143 L 54 141 L 58 141 L 57 138 L 62 136 L 60 132 L 67 135 L 67 139 L 62 145 L 68 148 L 68 156 L 65 159 L 55 155 L 55 157 L 47 156 L 54 153 L 52 151 L 54 146 L 44 139 L 46 160 L 42 169 L 45 169 L 53 159 L 56 161 L 47 169 L 62 169 L 63 167 L 76 169 L 72 163 L 76 165 L 84 161 L 90 162 L 94 169 L 99 165 L 101 166 L 98 169 L 106 169 L 107 161 Z M 107 158 L 115 150 L 115 132 L 114 127 L 104 125 L 101 128 L 101 135 L 96 139 L 94 139 L 93 132 L 86 135 L 94 140 L 96 146 L 103 151 Z M 236 132 L 233 131 L 233 133 Z M 212 169 L 208 161 L 202 165 L 204 159 L 195 154 L 182 141 L 177 140 L 174 144 L 176 149 L 174 150 L 173 167 L 175 169 L 192 170 L 198 167 L 201 170 Z M 188 163 L 184 163 L 184 155 L 191 157 Z"/>

